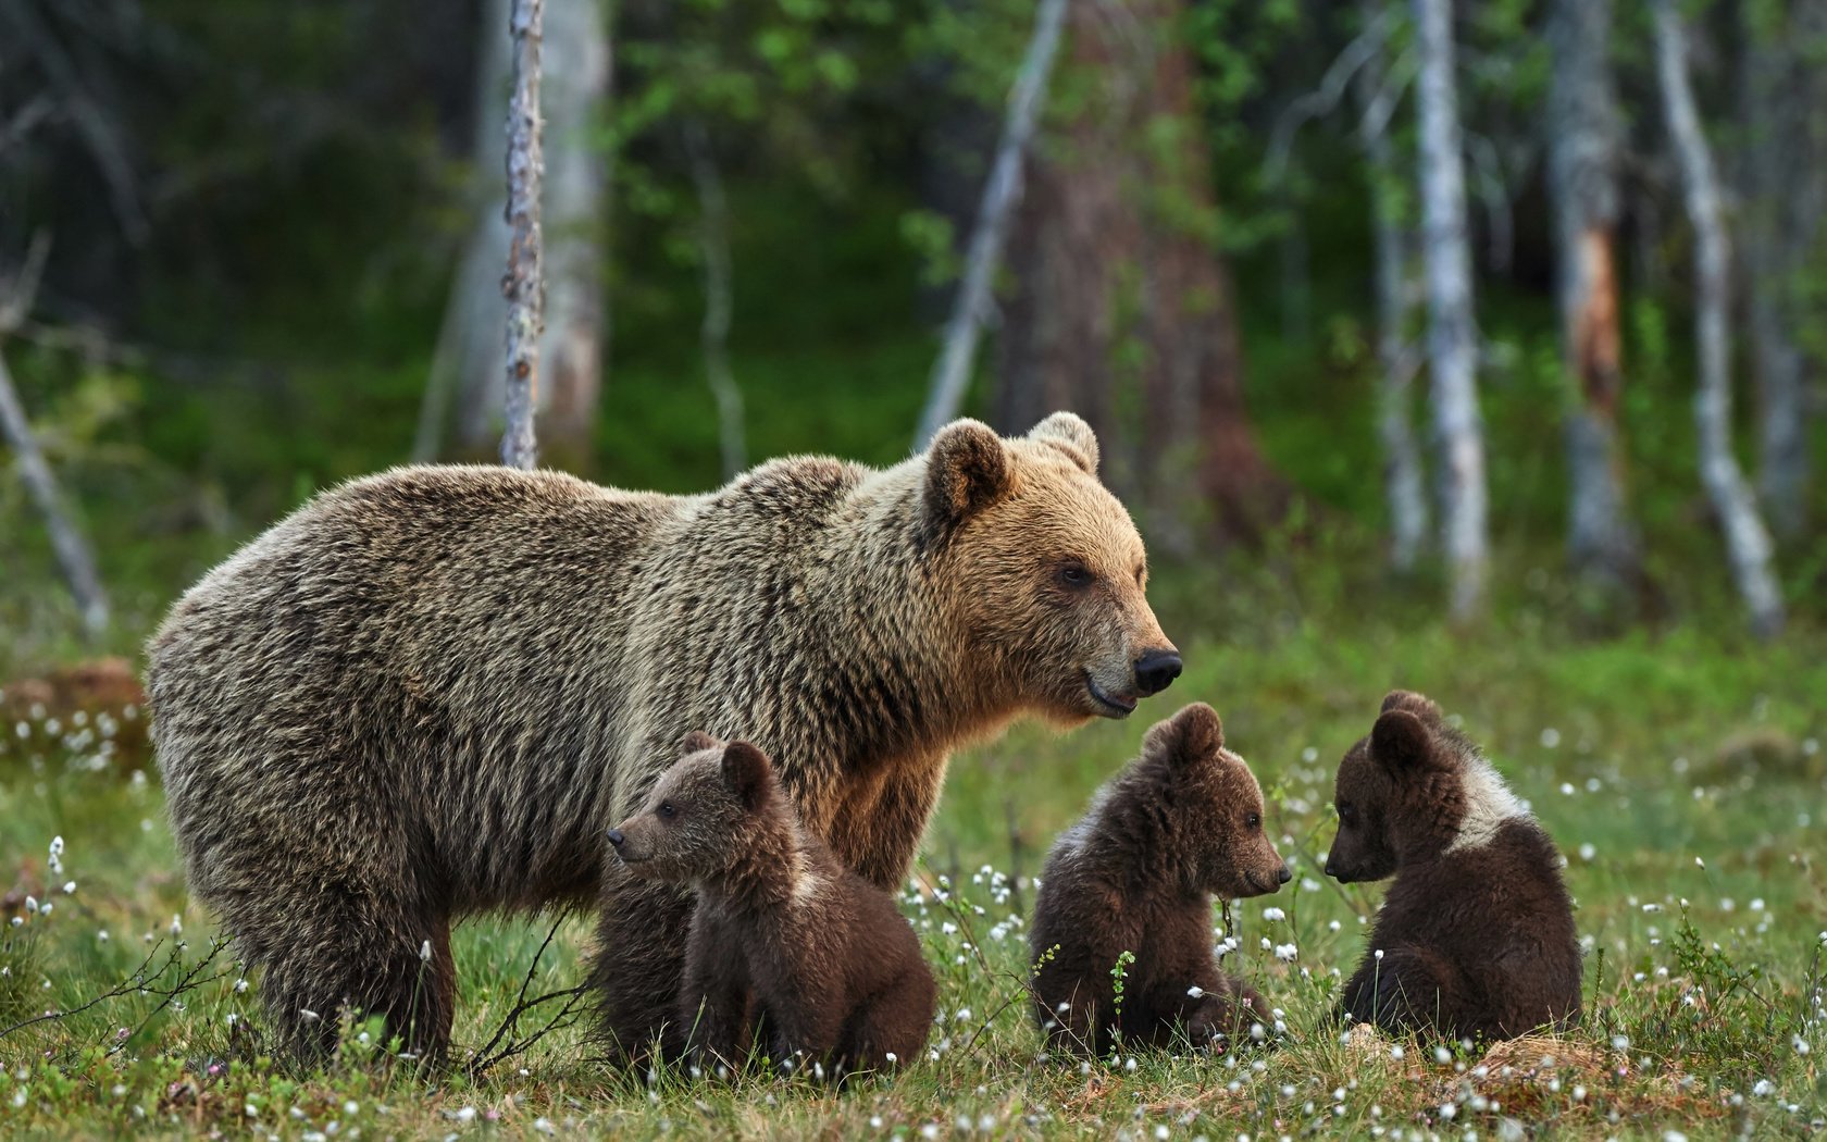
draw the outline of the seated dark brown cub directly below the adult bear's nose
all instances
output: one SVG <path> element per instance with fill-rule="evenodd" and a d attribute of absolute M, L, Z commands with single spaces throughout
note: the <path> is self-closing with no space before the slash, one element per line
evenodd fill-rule
<path fill-rule="evenodd" d="M 1211 897 L 1275 892 L 1288 866 L 1262 831 L 1262 789 L 1202 702 L 1158 722 L 1142 756 L 1052 846 L 1034 906 L 1034 1014 L 1047 1045 L 1105 1054 L 1268 1023 L 1219 968 Z M 1122 1005 L 1113 968 L 1129 952 Z"/>

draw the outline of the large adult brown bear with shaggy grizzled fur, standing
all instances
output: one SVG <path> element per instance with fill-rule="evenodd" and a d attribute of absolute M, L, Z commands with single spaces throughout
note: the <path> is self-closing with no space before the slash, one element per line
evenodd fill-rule
<path fill-rule="evenodd" d="M 672 1014 L 691 897 L 630 884 L 603 835 L 680 725 L 782 758 L 806 828 L 893 886 L 956 745 L 1021 713 L 1122 716 L 1178 672 L 1096 464 L 1060 413 L 703 495 L 484 466 L 320 495 L 148 647 L 190 886 L 294 1051 L 349 1003 L 440 1052 L 453 919 L 594 901 L 603 1031 L 639 1051 Z"/>

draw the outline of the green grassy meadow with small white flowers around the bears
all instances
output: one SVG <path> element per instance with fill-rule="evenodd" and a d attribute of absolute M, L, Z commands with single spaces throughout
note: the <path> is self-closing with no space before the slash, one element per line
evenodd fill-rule
<path fill-rule="evenodd" d="M 258 978 L 185 895 L 148 760 L 95 720 L 0 727 L 7 877 L 0 1027 L 104 996 L 152 956 L 148 990 L 0 1036 L 0 1131 L 126 1129 L 280 1137 L 1184 1137 L 1410 1131 L 1551 1137 L 1803 1137 L 1827 1118 L 1820 930 L 1827 926 L 1827 636 L 1809 623 L 1756 647 L 1716 623 L 1586 640 L 1505 585 L 1498 619 L 1454 634 L 1431 590 L 1341 572 L 1350 552 L 1275 574 L 1180 572 L 1156 588 L 1188 674 L 1136 718 L 1072 735 L 1023 725 L 957 756 L 906 908 L 941 981 L 934 1058 L 833 1093 L 749 1076 L 623 1074 L 566 1027 L 481 1076 L 426 1078 L 351 1029 L 345 1060 L 311 1074 L 236 1054 L 259 1023 Z M 1370 557 L 1357 554 L 1359 566 Z M 1522 572 L 1518 572 L 1522 574 Z M 1568 853 L 1591 943 L 1586 1023 L 1485 1062 L 1420 1043 L 1341 1043 L 1325 1016 L 1361 956 L 1379 888 L 1317 872 L 1332 833 L 1332 766 L 1390 685 L 1423 689 L 1484 742 Z M 1279 1045 L 1233 1056 L 1043 1062 L 1025 1003 L 1023 910 L 1051 839 L 1133 753 L 1146 724 L 1211 702 L 1270 793 L 1294 883 L 1213 923 L 1241 937 L 1235 970 L 1283 1009 Z M 84 736 L 88 733 L 88 736 Z M 51 837 L 66 842 L 60 873 Z M 941 881 L 941 877 L 945 877 Z M 64 894 L 64 881 L 75 883 Z M 935 888 L 948 884 L 948 899 Z M 51 901 L 27 912 L 24 897 Z M 1266 908 L 1286 919 L 1270 921 Z M 175 948 L 174 917 L 181 923 Z M 106 941 L 100 934 L 106 930 Z M 459 1052 L 513 1007 L 546 925 L 479 919 L 457 937 Z M 1294 943 L 1292 963 L 1264 950 Z M 588 926 L 568 921 L 533 994 L 579 979 Z M 175 959 L 172 959 L 175 950 Z M 185 974 L 201 981 L 168 1001 Z M 541 1027 L 535 1010 L 521 1032 Z M 1801 1036 L 1809 1054 L 1796 1047 Z M 1553 1063 L 1542 1063 L 1542 1056 Z M 1399 1056 L 1399 1058 L 1398 1058 Z M 1480 1073 L 1480 1067 L 1485 1071 Z M 1507 1069 L 1505 1069 L 1507 1067 Z M 1763 1085 L 1769 1084 L 1769 1085 Z M 1442 1107 L 1451 1105 L 1451 1118 Z M 334 1124 L 334 1135 L 333 1135 Z M 1160 1135 L 1166 1131 L 1166 1135 Z"/>

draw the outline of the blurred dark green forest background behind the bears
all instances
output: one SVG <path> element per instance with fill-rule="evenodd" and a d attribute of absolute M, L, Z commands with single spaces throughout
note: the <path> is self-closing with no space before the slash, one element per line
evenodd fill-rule
<path fill-rule="evenodd" d="M 1169 612 L 1820 625 L 1827 0 L 546 0 L 543 462 L 904 457 L 1049 7 L 963 413 L 1091 418 Z M 126 650 L 493 459 L 506 9 L 0 0 L 0 667 L 84 652 L 35 471 Z"/>

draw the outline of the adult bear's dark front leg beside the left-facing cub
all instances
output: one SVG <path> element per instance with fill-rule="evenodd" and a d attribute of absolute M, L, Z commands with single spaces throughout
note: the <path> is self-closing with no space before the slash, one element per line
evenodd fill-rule
<path fill-rule="evenodd" d="M 656 1043 L 665 1045 L 665 1029 L 678 1018 L 691 910 L 685 888 L 636 881 L 621 864 L 603 877 L 590 983 L 597 1034 L 616 1062 L 638 1065 Z"/>

